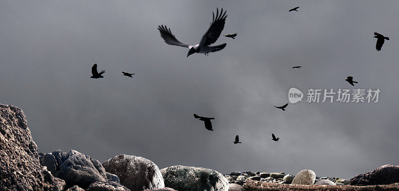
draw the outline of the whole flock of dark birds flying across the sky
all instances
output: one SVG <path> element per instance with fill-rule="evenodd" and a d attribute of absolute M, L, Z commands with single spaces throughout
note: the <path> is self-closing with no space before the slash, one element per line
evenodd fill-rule
<path fill-rule="evenodd" d="M 288 11 L 289 12 L 298 11 L 298 8 L 299 8 L 299 6 L 291 8 Z M 216 40 L 219 38 L 221 31 L 224 28 L 224 24 L 226 22 L 226 17 L 227 17 L 226 11 L 223 12 L 223 8 L 221 8 L 220 12 L 219 12 L 219 9 L 216 8 L 216 15 L 212 11 L 212 22 L 210 22 L 210 26 L 209 26 L 208 30 L 205 32 L 205 34 L 200 39 L 200 43 L 196 44 L 196 45 L 189 45 L 189 44 L 180 42 L 176 38 L 176 36 L 172 33 L 171 29 L 168 28 L 166 25 L 165 26 L 158 25 L 158 30 L 161 33 L 161 37 L 164 39 L 164 41 L 167 44 L 189 48 L 187 57 L 189 57 L 190 55 L 192 55 L 194 53 L 204 53 L 207 56 L 209 54 L 209 52 L 216 52 L 216 51 L 222 50 L 226 46 L 226 43 L 216 45 L 216 46 L 210 46 L 211 44 L 215 43 Z M 384 36 L 380 33 L 377 33 L 377 32 L 374 32 L 374 35 L 375 35 L 374 38 L 377 38 L 376 49 L 377 49 L 377 51 L 381 51 L 381 48 L 383 47 L 385 40 L 389 40 L 390 38 L 387 36 Z M 223 36 L 235 39 L 234 37 L 237 36 L 237 33 L 227 34 L 227 35 L 223 35 Z M 302 66 L 294 66 L 292 68 L 302 68 Z M 96 79 L 103 78 L 104 76 L 102 76 L 102 74 L 105 73 L 105 70 L 98 72 L 97 71 L 97 63 L 95 63 L 91 68 L 91 73 L 92 73 L 92 76 L 90 78 L 96 78 Z M 133 78 L 132 75 L 134 75 L 134 73 L 127 73 L 127 72 L 122 72 L 122 74 L 124 76 L 128 76 L 131 78 Z M 348 76 L 347 79 L 345 79 L 345 81 L 350 83 L 352 86 L 355 86 L 354 83 L 358 83 L 357 81 L 353 81 L 352 76 Z M 281 109 L 282 111 L 285 111 L 285 108 L 287 106 L 288 106 L 288 103 L 283 106 L 274 106 L 274 107 Z M 210 122 L 210 120 L 213 120 L 215 118 L 202 117 L 197 114 L 194 114 L 194 118 L 199 119 L 200 121 L 203 121 L 205 124 L 206 130 L 213 131 L 212 123 Z M 271 136 L 272 136 L 273 141 L 278 141 L 280 139 L 279 137 L 276 138 L 276 136 L 273 133 L 271 134 Z M 241 143 L 241 142 L 239 142 L 238 135 L 235 136 L 233 143 L 234 144 Z"/>

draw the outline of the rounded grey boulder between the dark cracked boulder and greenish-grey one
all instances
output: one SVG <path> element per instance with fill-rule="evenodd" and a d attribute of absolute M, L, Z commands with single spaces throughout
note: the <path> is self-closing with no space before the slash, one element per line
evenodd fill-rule
<path fill-rule="evenodd" d="M 158 166 L 143 157 L 118 155 L 105 161 L 103 166 L 106 172 L 119 177 L 121 185 L 132 191 L 165 187 Z"/>

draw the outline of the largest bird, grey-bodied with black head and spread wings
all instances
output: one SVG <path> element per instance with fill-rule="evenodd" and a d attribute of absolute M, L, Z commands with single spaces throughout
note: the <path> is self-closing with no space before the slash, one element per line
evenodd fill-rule
<path fill-rule="evenodd" d="M 194 46 L 180 42 L 176 36 L 172 34 L 171 29 L 166 25 L 158 25 L 158 30 L 167 44 L 189 48 L 190 50 L 187 57 L 194 53 L 205 53 L 205 55 L 208 55 L 209 52 L 219 51 L 226 46 L 226 43 L 217 46 L 209 46 L 210 44 L 215 43 L 217 38 L 219 38 L 220 33 L 224 28 L 226 17 L 226 11 L 223 13 L 223 8 L 221 9 L 220 14 L 219 9 L 216 8 L 216 16 L 212 12 L 212 22 L 210 23 L 209 29 L 202 36 L 200 43 Z"/>

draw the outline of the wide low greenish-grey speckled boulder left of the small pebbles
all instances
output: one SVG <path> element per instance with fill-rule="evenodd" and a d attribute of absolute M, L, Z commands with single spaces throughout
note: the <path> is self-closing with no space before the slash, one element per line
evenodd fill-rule
<path fill-rule="evenodd" d="M 161 173 L 165 186 L 177 191 L 228 191 L 227 179 L 211 169 L 172 166 Z"/>

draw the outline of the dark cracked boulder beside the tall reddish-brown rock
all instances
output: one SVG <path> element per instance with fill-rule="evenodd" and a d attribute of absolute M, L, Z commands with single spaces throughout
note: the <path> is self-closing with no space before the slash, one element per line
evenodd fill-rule
<path fill-rule="evenodd" d="M 67 189 L 75 185 L 87 189 L 92 183 L 107 181 L 107 174 L 99 161 L 75 150 L 45 154 L 40 157 L 40 162 L 51 174 L 64 180 Z"/>

